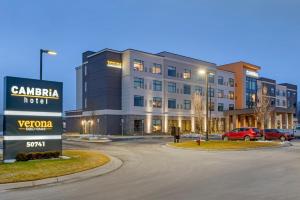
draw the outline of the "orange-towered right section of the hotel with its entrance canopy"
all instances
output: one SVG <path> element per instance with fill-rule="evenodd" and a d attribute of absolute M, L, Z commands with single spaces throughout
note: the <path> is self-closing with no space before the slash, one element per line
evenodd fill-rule
<path fill-rule="evenodd" d="M 226 111 L 227 130 L 238 127 L 293 128 L 296 121 L 297 86 L 259 77 L 261 67 L 236 62 L 219 66 L 219 69 L 234 72 L 236 109 Z M 267 98 L 270 116 L 266 122 L 257 119 L 256 104 Z M 263 124 L 262 124 L 263 123 Z"/>

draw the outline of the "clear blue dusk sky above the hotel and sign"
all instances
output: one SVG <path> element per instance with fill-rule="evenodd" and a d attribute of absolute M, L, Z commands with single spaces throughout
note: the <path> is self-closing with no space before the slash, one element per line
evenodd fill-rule
<path fill-rule="evenodd" d="M 64 83 L 75 109 L 75 67 L 84 51 L 134 48 L 218 65 L 246 61 L 261 76 L 300 86 L 300 0 L 0 0 L 0 109 L 3 77 Z"/>

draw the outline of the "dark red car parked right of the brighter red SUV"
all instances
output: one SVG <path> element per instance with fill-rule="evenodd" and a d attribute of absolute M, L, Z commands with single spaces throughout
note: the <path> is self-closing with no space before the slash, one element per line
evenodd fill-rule
<path fill-rule="evenodd" d="M 294 139 L 294 134 L 289 133 L 284 129 L 265 129 L 264 131 L 264 139 L 265 140 L 281 140 L 282 142 Z"/>

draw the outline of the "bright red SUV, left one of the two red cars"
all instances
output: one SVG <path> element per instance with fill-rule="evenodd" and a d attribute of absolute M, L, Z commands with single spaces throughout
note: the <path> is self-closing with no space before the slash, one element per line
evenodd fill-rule
<path fill-rule="evenodd" d="M 261 137 L 258 128 L 236 128 L 222 135 L 224 141 L 228 140 L 257 140 Z"/>

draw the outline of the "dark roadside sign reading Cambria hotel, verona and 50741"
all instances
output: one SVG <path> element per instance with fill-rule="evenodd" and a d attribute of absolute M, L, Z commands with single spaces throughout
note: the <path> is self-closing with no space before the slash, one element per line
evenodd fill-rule
<path fill-rule="evenodd" d="M 62 152 L 61 82 L 5 77 L 3 159 L 19 153 Z"/>

